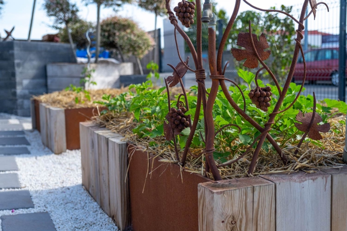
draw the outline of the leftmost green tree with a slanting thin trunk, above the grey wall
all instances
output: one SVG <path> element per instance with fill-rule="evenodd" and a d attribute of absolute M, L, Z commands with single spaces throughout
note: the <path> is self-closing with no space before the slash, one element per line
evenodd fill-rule
<path fill-rule="evenodd" d="M 79 20 L 77 15 L 79 10 L 76 4 L 71 3 L 69 0 L 45 0 L 43 6 L 46 9 L 47 16 L 54 18 L 53 28 L 63 29 L 63 26 L 65 26 L 71 49 L 76 58 L 76 52 L 70 33 L 70 25 Z"/>

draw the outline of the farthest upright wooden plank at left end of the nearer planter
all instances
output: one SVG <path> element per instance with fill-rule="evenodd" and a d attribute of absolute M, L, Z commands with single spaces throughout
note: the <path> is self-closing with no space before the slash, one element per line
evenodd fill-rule
<path fill-rule="evenodd" d="M 82 184 L 89 191 L 89 185 L 91 181 L 91 137 L 89 130 L 96 130 L 99 126 L 93 122 L 81 122 L 80 123 L 80 142 L 81 142 L 81 162 L 82 162 Z"/>

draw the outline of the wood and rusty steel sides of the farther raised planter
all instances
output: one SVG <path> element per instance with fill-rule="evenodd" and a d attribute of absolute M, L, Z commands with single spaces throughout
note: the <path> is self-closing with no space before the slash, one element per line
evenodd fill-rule
<path fill-rule="evenodd" d="M 99 108 L 100 111 L 106 108 Z M 97 114 L 96 108 L 61 109 L 32 100 L 32 124 L 42 143 L 55 154 L 80 149 L 79 123 Z"/>

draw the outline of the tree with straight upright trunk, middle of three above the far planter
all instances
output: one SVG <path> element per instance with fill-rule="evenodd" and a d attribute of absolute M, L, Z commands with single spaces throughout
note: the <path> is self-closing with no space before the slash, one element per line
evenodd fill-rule
<path fill-rule="evenodd" d="M 130 3 L 132 0 L 83 0 L 87 5 L 95 3 L 97 6 L 97 17 L 96 17 L 96 51 L 95 51 L 95 63 L 99 60 L 100 53 L 100 9 L 101 5 L 104 7 L 113 7 L 114 10 L 121 7 L 124 3 Z"/>

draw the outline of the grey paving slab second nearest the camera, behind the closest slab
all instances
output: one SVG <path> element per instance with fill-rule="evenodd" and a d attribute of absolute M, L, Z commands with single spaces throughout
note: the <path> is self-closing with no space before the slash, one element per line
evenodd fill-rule
<path fill-rule="evenodd" d="M 0 192 L 0 210 L 33 208 L 28 190 Z"/>

